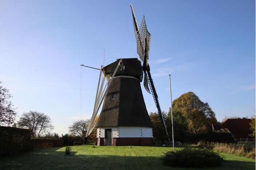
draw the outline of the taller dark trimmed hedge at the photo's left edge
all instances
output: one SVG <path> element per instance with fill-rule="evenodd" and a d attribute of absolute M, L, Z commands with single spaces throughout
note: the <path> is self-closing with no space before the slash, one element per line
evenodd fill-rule
<path fill-rule="evenodd" d="M 31 131 L 0 126 L 0 156 L 31 150 Z"/>

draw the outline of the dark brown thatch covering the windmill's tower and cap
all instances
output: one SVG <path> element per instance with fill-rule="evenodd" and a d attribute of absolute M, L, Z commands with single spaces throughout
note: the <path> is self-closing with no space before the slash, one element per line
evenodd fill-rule
<path fill-rule="evenodd" d="M 134 61 L 138 63 L 137 67 L 139 67 L 133 66 L 135 71 L 128 69 L 130 63 Z M 140 72 L 142 73 L 139 60 L 131 59 L 129 61 L 129 59 L 124 59 L 123 63 L 125 65 L 124 75 L 136 74 L 136 72 L 137 75 Z M 106 66 L 106 70 L 111 70 L 110 66 L 112 64 Z M 126 71 L 128 71 L 127 74 L 125 74 Z M 115 99 L 113 100 L 111 100 L 112 93 L 115 93 Z M 125 77 L 114 78 L 108 89 L 96 127 L 117 126 L 153 127 L 144 102 L 140 81 L 137 79 Z"/>

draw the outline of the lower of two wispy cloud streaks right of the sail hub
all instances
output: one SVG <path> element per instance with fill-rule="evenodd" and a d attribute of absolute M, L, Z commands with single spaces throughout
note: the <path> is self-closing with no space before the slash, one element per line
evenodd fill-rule
<path fill-rule="evenodd" d="M 163 67 L 154 70 L 154 74 L 152 74 L 153 77 L 161 77 L 164 75 L 169 75 L 170 72 L 175 72 L 175 71 L 185 71 L 187 69 L 191 69 L 195 66 L 200 65 L 201 63 L 196 62 L 196 63 L 186 63 L 186 64 L 181 64 L 177 66 L 172 66 L 172 67 Z"/>

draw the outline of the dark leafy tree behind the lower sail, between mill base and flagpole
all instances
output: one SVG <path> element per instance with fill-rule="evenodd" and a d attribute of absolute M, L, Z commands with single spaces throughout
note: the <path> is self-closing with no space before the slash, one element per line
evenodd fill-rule
<path fill-rule="evenodd" d="M 162 115 L 164 117 L 165 125 L 168 126 L 170 123 L 168 123 L 169 120 L 167 119 L 168 118 L 167 113 L 163 112 Z M 161 140 L 161 141 L 167 140 L 167 135 L 164 130 L 164 127 L 163 127 L 163 124 L 161 122 L 158 112 L 149 113 L 149 117 L 153 123 L 153 138 L 154 138 L 154 140 Z M 167 129 L 169 129 L 169 128 L 167 127 Z M 170 134 L 172 134 L 172 131 L 168 130 L 168 132 L 171 132 Z M 171 137 L 171 136 L 169 136 L 169 137 Z"/>

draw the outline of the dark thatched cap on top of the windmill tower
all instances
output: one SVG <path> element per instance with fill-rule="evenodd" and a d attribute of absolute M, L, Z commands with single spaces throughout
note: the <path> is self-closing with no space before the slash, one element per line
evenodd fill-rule
<path fill-rule="evenodd" d="M 120 59 L 116 59 L 115 62 L 103 67 L 105 71 L 105 76 L 112 76 L 113 72 L 116 69 L 117 64 L 119 63 Z M 143 76 L 141 62 L 137 58 L 124 58 L 122 59 L 123 65 L 125 66 L 125 70 L 121 71 L 120 67 L 116 72 L 116 76 L 119 75 L 131 75 L 135 76 L 137 79 L 141 79 Z"/>

